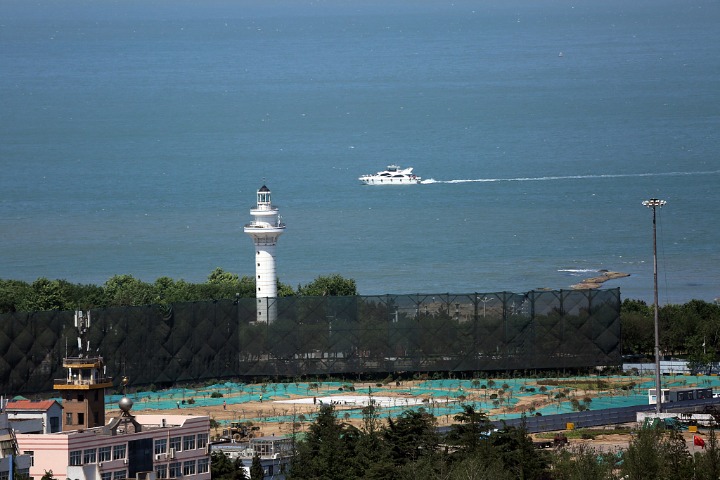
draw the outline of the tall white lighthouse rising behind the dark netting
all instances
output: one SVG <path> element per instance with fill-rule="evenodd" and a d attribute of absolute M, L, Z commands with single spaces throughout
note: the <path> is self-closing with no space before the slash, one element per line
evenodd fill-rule
<path fill-rule="evenodd" d="M 255 244 L 255 296 L 257 321 L 272 322 L 277 318 L 277 274 L 275 273 L 275 245 L 285 231 L 285 224 L 270 199 L 265 185 L 257 193 L 257 205 L 250 209 L 254 220 L 245 225 L 245 233 Z"/>

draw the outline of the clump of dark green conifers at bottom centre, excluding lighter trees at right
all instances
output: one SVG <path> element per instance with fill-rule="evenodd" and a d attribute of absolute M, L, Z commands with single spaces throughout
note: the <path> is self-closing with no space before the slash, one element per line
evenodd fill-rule
<path fill-rule="evenodd" d="M 435 417 L 423 409 L 405 411 L 380 425 L 377 410 L 367 407 L 364 428 L 357 430 L 339 423 L 333 407 L 323 405 L 297 445 L 290 478 L 550 478 L 547 455 L 535 450 L 525 430 L 508 428 L 488 435 L 485 414 L 471 405 L 463 407 L 458 420 L 461 425 L 454 427 L 452 438 L 441 439 Z"/>

